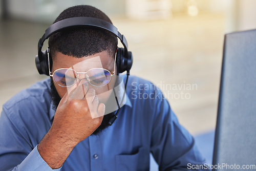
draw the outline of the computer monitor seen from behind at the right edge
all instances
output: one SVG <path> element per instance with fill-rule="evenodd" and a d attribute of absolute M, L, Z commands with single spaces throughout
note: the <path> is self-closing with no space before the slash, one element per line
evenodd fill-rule
<path fill-rule="evenodd" d="M 225 35 L 212 164 L 256 170 L 256 30 Z"/>

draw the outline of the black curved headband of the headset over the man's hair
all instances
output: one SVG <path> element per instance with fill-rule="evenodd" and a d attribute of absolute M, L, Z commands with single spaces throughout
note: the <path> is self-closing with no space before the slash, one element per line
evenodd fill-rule
<path fill-rule="evenodd" d="M 60 20 L 46 29 L 45 34 L 38 41 L 38 54 L 41 52 L 46 39 L 48 39 L 52 34 L 67 28 L 99 28 L 107 30 L 120 39 L 125 51 L 128 52 L 126 38 L 111 23 L 93 17 L 72 17 Z"/>

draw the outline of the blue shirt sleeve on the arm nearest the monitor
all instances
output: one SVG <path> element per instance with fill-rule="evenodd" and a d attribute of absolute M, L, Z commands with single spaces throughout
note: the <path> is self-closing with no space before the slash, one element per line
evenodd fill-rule
<path fill-rule="evenodd" d="M 203 166 L 206 161 L 193 136 L 179 124 L 168 101 L 159 92 L 156 92 L 161 98 L 155 100 L 151 140 L 151 152 L 159 170 L 189 170 L 190 165 Z"/>

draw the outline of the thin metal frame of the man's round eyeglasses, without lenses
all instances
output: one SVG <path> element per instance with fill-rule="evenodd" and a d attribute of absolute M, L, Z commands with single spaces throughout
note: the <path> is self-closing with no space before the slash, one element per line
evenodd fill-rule
<path fill-rule="evenodd" d="M 93 69 L 103 69 L 103 70 L 105 70 L 105 71 L 108 71 L 108 72 L 110 73 L 110 76 L 111 76 L 111 77 L 115 75 L 115 70 L 116 70 L 116 54 L 115 54 L 114 71 L 112 72 L 112 74 L 111 74 L 111 72 L 110 72 L 109 70 L 104 69 L 104 68 L 91 68 L 91 69 L 88 70 L 87 72 L 77 72 L 77 71 L 75 71 L 74 69 L 71 69 L 71 68 L 59 68 L 59 69 L 55 70 L 55 71 L 52 73 L 52 71 L 50 71 L 49 48 L 47 48 L 47 52 L 48 52 L 47 54 L 48 54 L 49 76 L 50 76 L 50 77 L 53 77 L 54 73 L 55 73 L 56 71 L 58 71 L 58 70 L 62 70 L 62 69 L 73 70 L 73 71 L 76 73 L 76 80 L 74 81 L 74 83 L 73 83 L 71 86 L 73 86 L 73 85 L 77 82 L 77 80 L 79 79 L 79 74 L 86 74 L 86 79 L 87 79 L 87 81 L 88 81 L 92 86 L 95 86 L 95 85 L 93 85 L 93 84 L 89 81 L 89 79 L 88 79 L 88 74 L 87 74 L 90 70 L 93 70 Z M 111 80 L 111 77 L 110 77 L 110 80 Z M 54 80 L 54 78 L 53 78 L 53 80 Z M 110 82 L 110 80 L 109 80 L 109 82 Z M 54 82 L 56 82 L 56 81 L 54 80 Z M 109 83 L 109 82 L 108 82 L 108 83 Z M 106 84 L 108 84 L 108 83 L 106 83 Z M 58 83 L 56 82 L 56 84 L 58 84 Z M 104 85 L 102 85 L 102 86 L 105 86 L 106 84 L 104 84 Z M 60 85 L 58 84 L 58 86 L 60 86 Z M 60 86 L 60 87 L 71 87 L 71 86 Z M 102 87 L 102 86 L 95 86 L 95 87 Z"/>

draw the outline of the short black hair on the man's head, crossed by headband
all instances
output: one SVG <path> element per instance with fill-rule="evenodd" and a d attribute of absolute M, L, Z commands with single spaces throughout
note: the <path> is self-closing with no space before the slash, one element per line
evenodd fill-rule
<path fill-rule="evenodd" d="M 72 17 L 94 17 L 112 24 L 110 18 L 99 9 L 89 5 L 70 7 L 56 18 L 54 23 Z M 56 52 L 77 58 L 107 51 L 115 57 L 117 37 L 102 29 L 74 28 L 57 32 L 49 37 L 49 48 L 52 58 Z"/>

